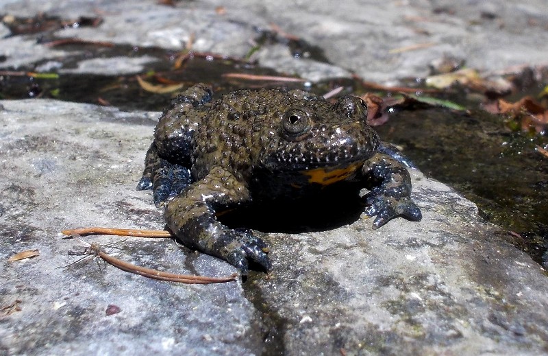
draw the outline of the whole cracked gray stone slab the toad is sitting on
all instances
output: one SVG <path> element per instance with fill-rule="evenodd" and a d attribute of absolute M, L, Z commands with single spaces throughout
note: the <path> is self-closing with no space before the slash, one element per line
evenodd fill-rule
<path fill-rule="evenodd" d="M 159 114 L 40 99 L 0 104 L 2 354 L 548 352 L 545 271 L 482 222 L 473 203 L 419 171 L 413 198 L 422 222 L 268 233 L 273 270 L 245 283 L 181 285 L 92 259 L 74 263 L 67 252 L 84 244 L 64 239 L 64 228 L 163 227 L 150 192 L 135 190 Z M 171 239 L 85 239 L 158 270 L 235 272 Z M 8 262 L 35 249 L 40 256 Z M 108 316 L 109 305 L 121 311 Z"/>

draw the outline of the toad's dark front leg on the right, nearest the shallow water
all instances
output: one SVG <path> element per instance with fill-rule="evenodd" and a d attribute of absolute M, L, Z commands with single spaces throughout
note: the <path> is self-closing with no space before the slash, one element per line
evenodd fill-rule
<path fill-rule="evenodd" d="M 401 216 L 414 222 L 421 221 L 421 209 L 411 200 L 411 178 L 406 167 L 394 158 L 377 153 L 362 168 L 366 188 L 367 208 L 364 215 L 377 215 L 373 228 Z"/>

